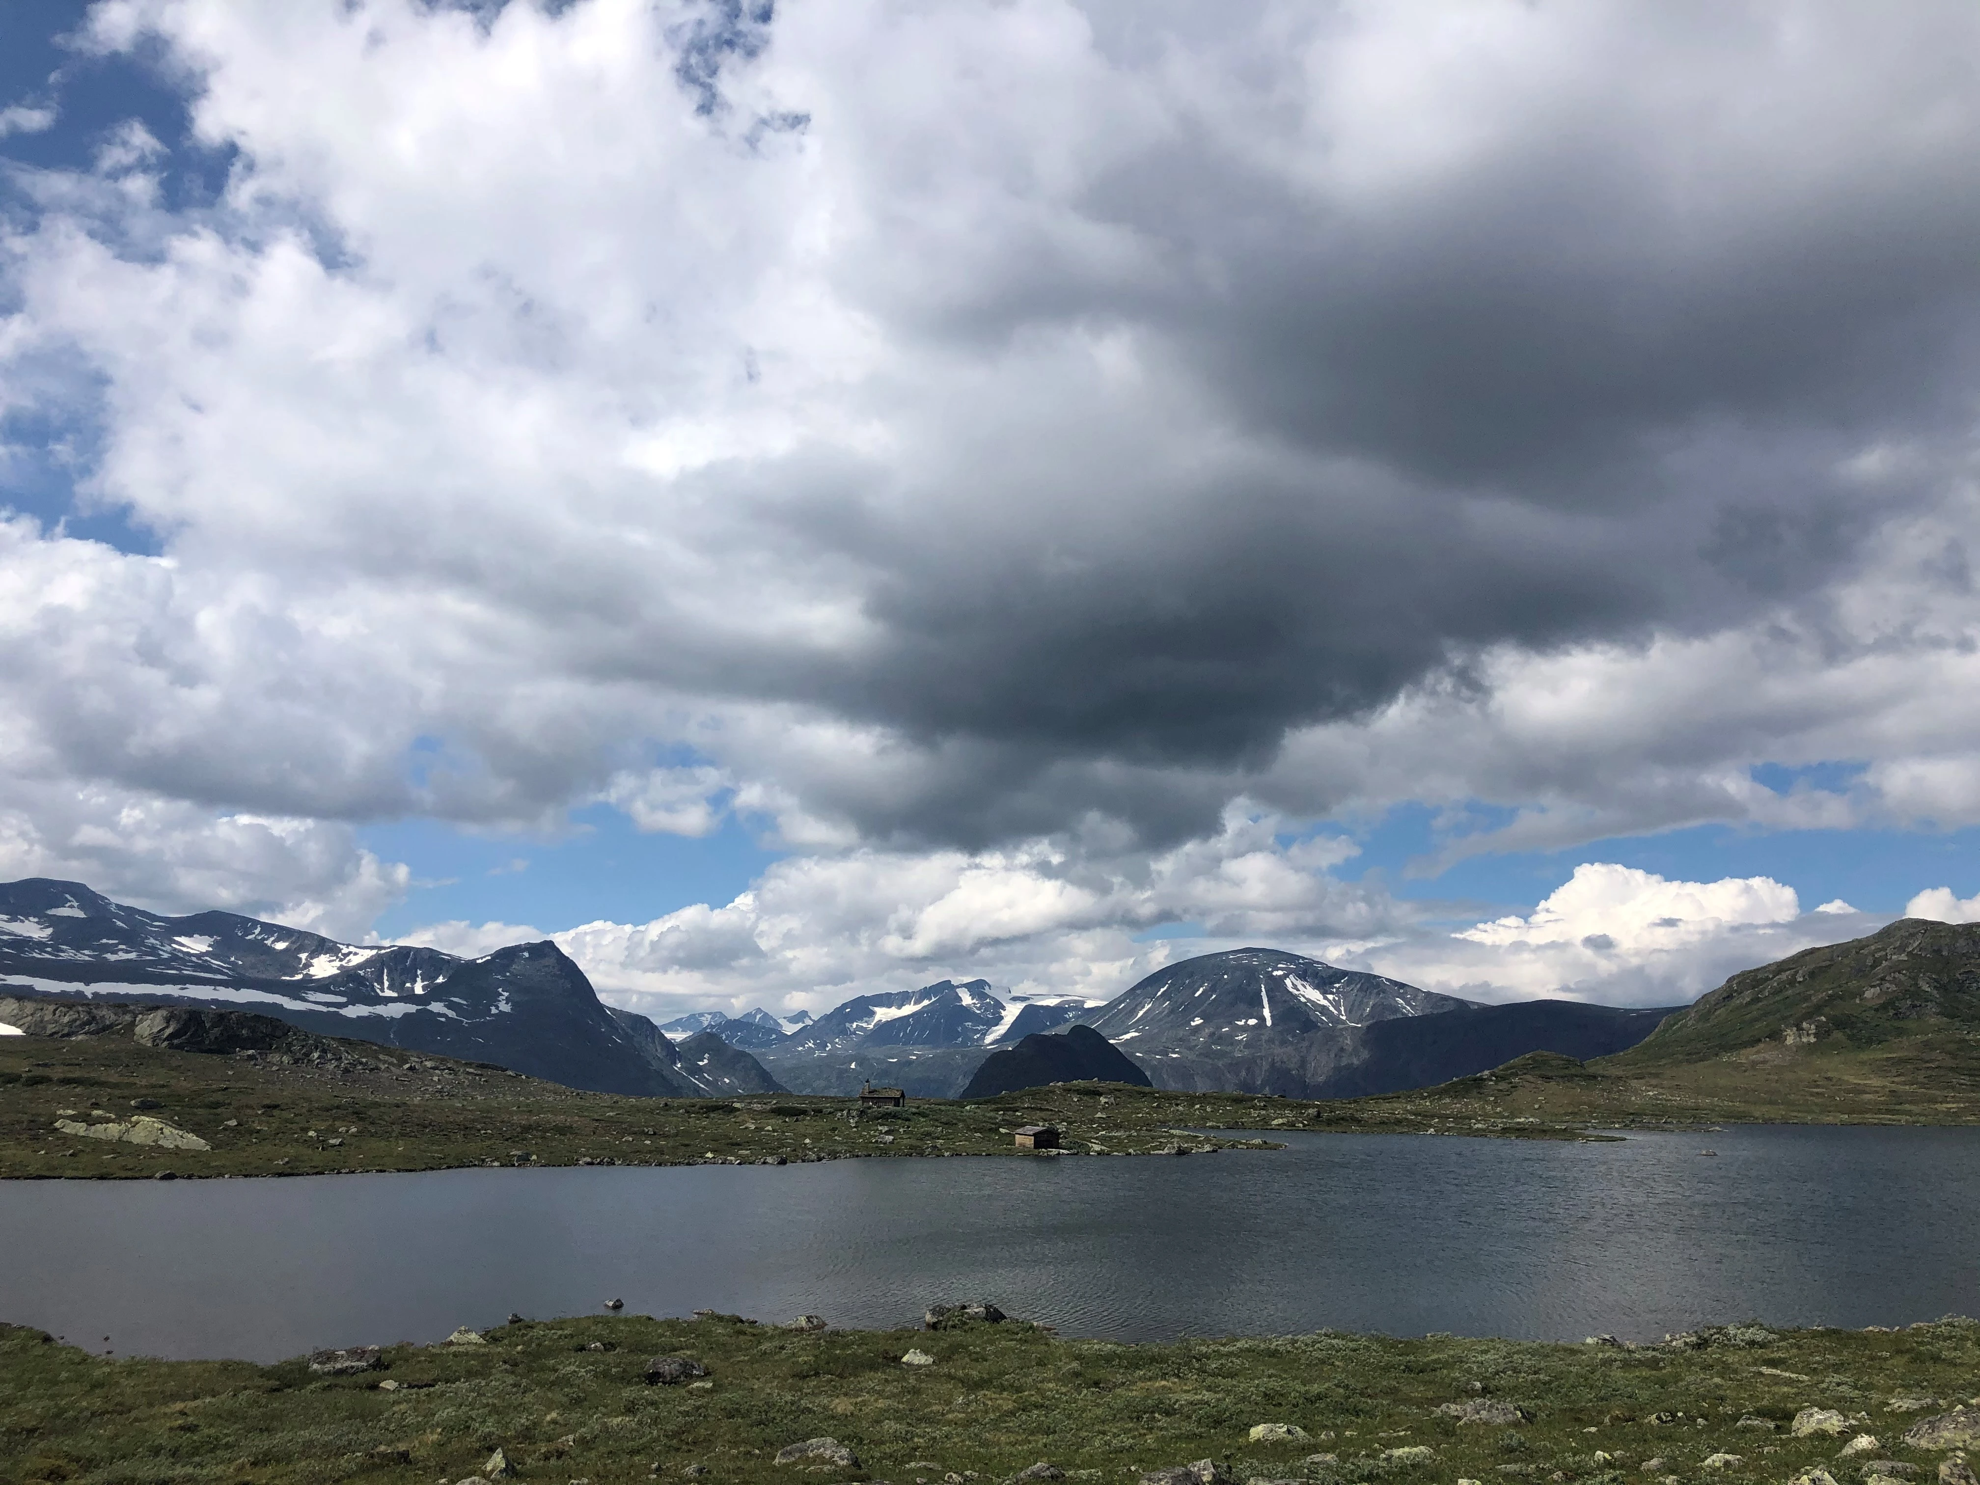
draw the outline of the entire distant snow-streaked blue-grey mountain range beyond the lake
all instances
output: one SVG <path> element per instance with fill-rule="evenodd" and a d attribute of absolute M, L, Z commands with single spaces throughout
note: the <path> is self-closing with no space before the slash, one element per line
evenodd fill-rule
<path fill-rule="evenodd" d="M 48 879 L 0 885 L 0 994 L 236 1006 L 327 1036 L 661 1097 L 847 1095 L 869 1081 L 956 1097 L 994 1051 L 1075 1022 L 1154 1087 L 1356 1097 L 1529 1051 L 1606 1055 L 1665 1014 L 1564 1000 L 1477 1006 L 1301 954 L 1236 948 L 1156 970 L 1103 1006 L 1004 1000 L 972 978 L 853 996 L 816 1018 L 754 1008 L 655 1026 L 600 1002 L 550 940 L 481 958 L 343 944 L 236 913 L 160 917 Z M 1026 1065 L 1059 1055 L 1034 1047 Z"/>

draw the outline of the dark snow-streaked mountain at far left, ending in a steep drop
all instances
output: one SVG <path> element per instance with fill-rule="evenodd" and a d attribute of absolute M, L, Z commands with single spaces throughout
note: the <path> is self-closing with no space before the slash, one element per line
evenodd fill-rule
<path fill-rule="evenodd" d="M 606 1008 L 548 940 L 481 958 L 343 944 L 238 913 L 160 917 L 30 877 L 0 885 L 0 994 L 232 1006 L 600 1093 L 705 1093 L 659 1028 Z"/>

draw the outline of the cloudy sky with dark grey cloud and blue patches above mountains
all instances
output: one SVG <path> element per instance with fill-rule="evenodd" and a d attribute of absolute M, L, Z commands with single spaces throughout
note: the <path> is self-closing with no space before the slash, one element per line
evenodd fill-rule
<path fill-rule="evenodd" d="M 618 1004 L 1980 919 L 1966 0 L 12 0 L 0 879 Z"/>

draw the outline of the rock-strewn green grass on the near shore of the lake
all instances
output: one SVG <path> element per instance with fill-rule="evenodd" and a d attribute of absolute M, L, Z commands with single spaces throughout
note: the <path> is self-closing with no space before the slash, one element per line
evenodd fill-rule
<path fill-rule="evenodd" d="M 1897 1485 L 1907 1471 L 1929 1483 L 1944 1451 L 1901 1436 L 1974 1388 L 1976 1336 L 1972 1321 L 1940 1321 L 1903 1333 L 1732 1327 L 1645 1348 L 1333 1333 L 1125 1346 L 1016 1321 L 802 1333 L 735 1317 L 572 1319 L 489 1331 L 487 1344 L 394 1346 L 384 1370 L 323 1378 L 301 1360 L 109 1360 L 4 1327 L 0 1479 L 457 1481 L 501 1449 L 525 1481 L 592 1485 L 935 1485 L 1002 1481 L 1038 1461 L 1123 1479 L 1202 1457 L 1239 1481 L 1315 1485 L 1738 1485 L 1810 1465 L 1843 1485 L 1869 1473 Z M 903 1366 L 911 1346 L 935 1364 Z M 647 1386 L 655 1354 L 701 1362 L 707 1384 Z M 1529 1420 L 1465 1426 L 1436 1412 L 1475 1398 Z M 1792 1437 L 1794 1414 L 1818 1406 L 1851 1420 L 1847 1432 Z M 1307 1437 L 1253 1443 L 1255 1424 Z M 1839 1457 L 1855 1434 L 1875 1447 Z M 774 1463 L 818 1436 L 859 1463 Z M 1707 1465 L 1713 1455 L 1734 1459 Z"/>

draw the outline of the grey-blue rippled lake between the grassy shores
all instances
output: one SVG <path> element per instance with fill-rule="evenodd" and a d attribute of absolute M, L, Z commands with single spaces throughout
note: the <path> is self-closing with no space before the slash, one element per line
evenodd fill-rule
<path fill-rule="evenodd" d="M 273 1360 L 614 1297 L 628 1315 L 845 1327 L 990 1299 L 1119 1340 L 1657 1338 L 1980 1311 L 1974 1129 L 1287 1140 L 1190 1158 L 0 1182 L 0 1319 L 117 1354 Z"/>

